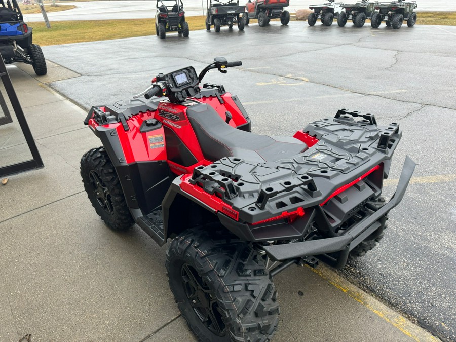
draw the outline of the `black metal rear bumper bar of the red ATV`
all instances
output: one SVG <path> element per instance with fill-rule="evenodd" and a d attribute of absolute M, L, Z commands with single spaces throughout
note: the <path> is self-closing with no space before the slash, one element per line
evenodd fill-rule
<path fill-rule="evenodd" d="M 378 219 L 388 214 L 404 197 L 410 178 L 416 164 L 407 156 L 405 159 L 396 192 L 391 200 L 379 208 L 372 215 L 356 223 L 344 235 L 320 240 L 309 240 L 291 244 L 264 246 L 268 256 L 277 261 L 317 256 L 333 267 L 341 268 L 347 263 L 349 252 L 358 246 L 364 239 L 375 232 L 380 224 Z M 338 256 L 328 256 L 329 253 L 338 253 Z"/>

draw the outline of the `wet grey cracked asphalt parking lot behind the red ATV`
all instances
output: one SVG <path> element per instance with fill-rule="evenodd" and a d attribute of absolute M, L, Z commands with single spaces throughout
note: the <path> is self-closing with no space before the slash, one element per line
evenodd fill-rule
<path fill-rule="evenodd" d="M 366 25 L 367 26 L 367 25 Z M 151 77 L 215 56 L 242 67 L 206 81 L 236 93 L 254 132 L 292 135 L 339 108 L 400 123 L 385 194 L 409 155 L 418 165 L 401 205 L 390 213 L 384 241 L 340 274 L 409 315 L 444 340 L 456 340 L 455 27 L 392 30 L 306 22 L 265 28 L 192 31 L 44 48 L 47 59 L 78 74 L 50 86 L 84 108 L 140 92 Z M 88 132 L 87 134 L 90 134 Z"/>

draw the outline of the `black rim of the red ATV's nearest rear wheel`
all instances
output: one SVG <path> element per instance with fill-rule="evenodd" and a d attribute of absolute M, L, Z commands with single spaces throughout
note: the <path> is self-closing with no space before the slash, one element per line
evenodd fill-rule
<path fill-rule="evenodd" d="M 181 268 L 182 285 L 188 302 L 206 328 L 217 336 L 226 334 L 225 324 L 217 298 L 192 265 L 185 263 Z"/>

